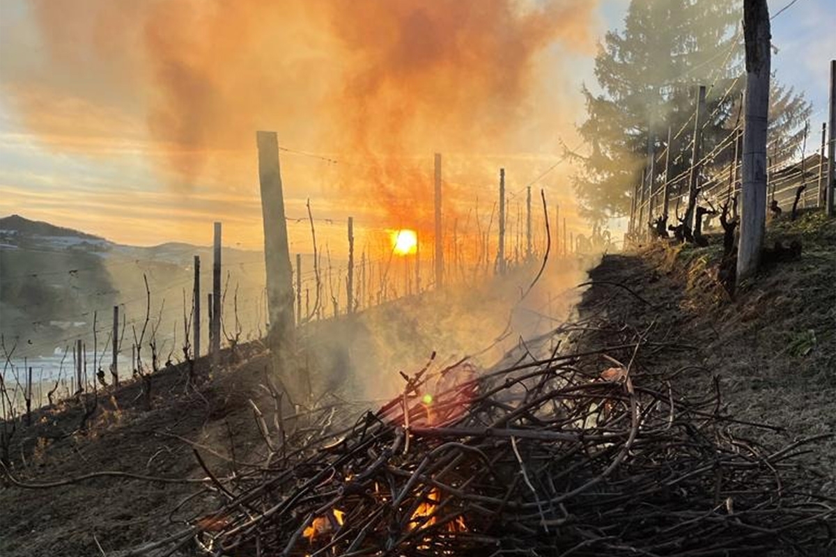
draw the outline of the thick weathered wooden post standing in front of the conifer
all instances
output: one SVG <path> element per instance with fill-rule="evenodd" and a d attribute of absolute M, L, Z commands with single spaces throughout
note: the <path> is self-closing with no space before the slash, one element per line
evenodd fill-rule
<path fill-rule="evenodd" d="M 767 218 L 767 124 L 769 114 L 770 29 L 767 0 L 744 0 L 746 40 L 746 128 L 737 283 L 757 272 Z"/>

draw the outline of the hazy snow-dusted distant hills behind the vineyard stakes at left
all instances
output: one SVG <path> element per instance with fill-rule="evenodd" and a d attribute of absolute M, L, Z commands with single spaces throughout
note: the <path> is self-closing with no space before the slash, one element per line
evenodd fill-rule
<path fill-rule="evenodd" d="M 259 327 L 265 328 L 259 301 L 263 255 L 227 246 L 222 253 L 223 284 L 230 293 L 227 315 L 235 322 L 237 304 L 242 332 L 255 335 Z M 212 246 L 182 242 L 127 246 L 21 215 L 0 218 L 0 334 L 25 339 L 26 350 L 18 355 L 50 357 L 70 340 L 80 338 L 94 345 L 94 316 L 100 322 L 113 306 L 120 306 L 129 323 L 125 334 L 129 342 L 131 323 L 141 325 L 145 316 L 147 278 L 152 322 L 163 323 L 157 337 L 161 344 L 167 342 L 167 353 L 175 332 L 182 338 L 183 314 L 191 304 L 194 256 L 203 261 L 201 291 L 210 292 Z M 178 321 L 181 324 L 175 326 Z"/>

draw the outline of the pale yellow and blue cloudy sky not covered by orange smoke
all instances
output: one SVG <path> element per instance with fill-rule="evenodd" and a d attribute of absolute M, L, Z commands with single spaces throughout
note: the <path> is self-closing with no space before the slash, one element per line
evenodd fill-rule
<path fill-rule="evenodd" d="M 770 2 L 772 13 L 788 2 Z M 84 2 L 76 5 L 79 11 L 84 10 Z M 594 33 L 600 36 L 607 28 L 619 27 L 627 5 L 627 0 L 599 3 Z M 772 24 L 773 44 L 777 48 L 772 67 L 782 82 L 805 91 L 813 102 L 813 144 L 818 144 L 816 130 L 827 118 L 829 60 L 836 54 L 834 26 L 836 3 L 832 0 L 798 0 Z M 206 245 L 211 242 L 212 221 L 222 220 L 225 243 L 260 248 L 255 129 L 251 144 L 208 152 L 204 171 L 191 180 L 184 180 L 183 175 L 166 170 L 163 159 L 171 156 L 171 146 L 160 144 L 146 133 L 149 123 L 137 116 L 130 98 L 126 97 L 123 104 L 99 102 L 95 94 L 85 97 L 84 91 L 94 91 L 96 83 L 94 79 L 84 83 L 83 74 L 76 78 L 84 86 L 63 97 L 45 94 L 46 88 L 23 88 L 19 78 L 26 74 L 26 65 L 38 65 L 44 58 L 54 56 L 38 38 L 28 3 L 3 0 L 0 34 L 5 36 L 0 43 L 0 215 L 18 213 L 102 235 L 112 241 L 144 246 L 166 241 Z M 509 190 L 514 192 L 558 163 L 561 140 L 572 147 L 577 141 L 572 128 L 583 117 L 579 111 L 582 106 L 579 88 L 584 81 L 594 83 L 594 49 L 585 53 L 571 50 L 559 46 L 548 49 L 548 55 L 561 57 L 563 64 L 562 77 L 550 77 L 542 84 L 547 93 L 549 89 L 559 89 L 556 96 L 562 99 L 558 109 L 547 114 L 556 120 L 553 129 L 558 130 L 548 135 L 548 140 L 539 144 L 517 142 L 519 149 L 510 152 L 504 149 L 489 152 L 480 147 L 478 152 L 444 153 L 446 180 L 465 185 L 478 180 L 478 186 L 485 189 L 482 210 L 495 195 L 492 190 L 495 174 L 484 170 L 480 175 L 474 168 L 506 166 L 512 180 Z M 37 76 L 37 72 L 33 75 Z M 28 79 L 26 84 L 33 84 L 33 80 Z M 126 83 L 125 87 L 130 85 Z M 19 111 L 22 105 L 19 101 L 24 96 L 30 111 L 27 117 Z M 65 135 L 53 137 L 33 132 L 28 125 L 33 113 L 46 122 L 46 129 L 53 130 L 50 134 Z M 340 153 L 323 151 L 305 134 L 290 134 L 298 144 L 286 143 L 281 122 L 263 124 L 265 129 L 276 129 L 280 144 L 290 149 L 283 151 L 281 158 L 287 214 L 292 219 L 288 223 L 292 251 L 304 250 L 309 243 L 308 225 L 301 221 L 307 216 L 308 197 L 326 237 L 329 234 L 343 237 L 348 215 L 355 215 L 355 227 L 360 234 L 363 230 L 396 229 L 412 224 L 387 221 L 390 215 L 377 210 L 374 195 L 363 203 L 347 204 L 349 198 L 334 186 L 337 174 L 345 168 L 338 168 L 342 164 Z M 68 129 L 78 133 L 69 133 Z M 537 129 L 542 134 L 542 129 Z M 309 154 L 320 154 L 322 158 Z M 409 164 L 426 170 L 427 191 L 431 191 L 431 152 L 426 157 L 412 156 Z M 476 159 L 478 164 L 473 162 Z M 548 180 L 537 183 L 537 187 L 546 188 L 550 201 L 568 206 L 573 195 L 566 180 L 571 169 L 565 166 L 561 165 Z M 405 215 L 399 220 L 409 220 L 408 211 Z M 580 230 L 583 223 L 573 220 L 571 225 Z"/>

